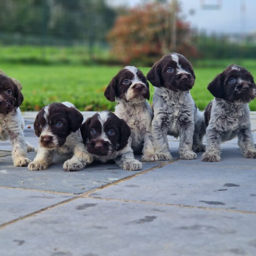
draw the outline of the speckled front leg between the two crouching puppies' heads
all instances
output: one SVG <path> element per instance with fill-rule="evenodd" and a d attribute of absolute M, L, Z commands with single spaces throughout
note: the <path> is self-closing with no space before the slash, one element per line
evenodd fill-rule
<path fill-rule="evenodd" d="M 84 167 L 93 162 L 93 158 L 88 154 L 83 143 L 79 143 L 74 148 L 74 155 L 67 160 L 63 169 L 68 172 L 76 172 L 84 169 Z"/>

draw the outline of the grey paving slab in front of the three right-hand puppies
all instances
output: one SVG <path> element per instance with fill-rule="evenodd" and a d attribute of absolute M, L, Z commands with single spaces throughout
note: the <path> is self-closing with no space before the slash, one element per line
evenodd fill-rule
<path fill-rule="evenodd" d="M 177 161 L 91 196 L 256 212 L 255 180 L 256 169 Z"/>

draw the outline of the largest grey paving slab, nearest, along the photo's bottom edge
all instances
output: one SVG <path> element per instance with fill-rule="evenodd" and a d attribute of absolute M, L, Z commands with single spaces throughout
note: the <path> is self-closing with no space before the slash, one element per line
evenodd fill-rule
<path fill-rule="evenodd" d="M 81 198 L 5 227 L 0 248 L 5 256 L 256 255 L 255 218 Z"/>

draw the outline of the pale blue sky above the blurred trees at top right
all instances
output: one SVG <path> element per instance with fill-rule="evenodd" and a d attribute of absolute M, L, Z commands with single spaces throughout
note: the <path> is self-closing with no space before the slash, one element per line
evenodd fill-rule
<path fill-rule="evenodd" d="M 150 0 L 109 0 L 113 5 L 136 6 Z M 201 2 L 213 4 L 221 2 L 219 10 L 204 10 Z M 193 28 L 207 33 L 250 33 L 256 32 L 256 0 L 180 0 L 182 14 Z M 240 7 L 246 8 L 241 15 Z M 190 10 L 195 14 L 190 15 Z"/>

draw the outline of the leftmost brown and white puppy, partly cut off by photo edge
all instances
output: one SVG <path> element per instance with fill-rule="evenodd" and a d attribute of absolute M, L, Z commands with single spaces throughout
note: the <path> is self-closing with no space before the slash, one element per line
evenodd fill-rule
<path fill-rule="evenodd" d="M 35 150 L 23 134 L 25 124 L 19 108 L 22 102 L 23 95 L 15 82 L 0 74 L 0 140 L 10 140 L 14 166 L 27 166 L 27 151 Z"/>

